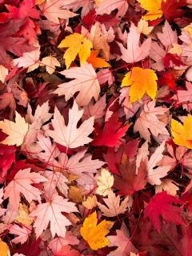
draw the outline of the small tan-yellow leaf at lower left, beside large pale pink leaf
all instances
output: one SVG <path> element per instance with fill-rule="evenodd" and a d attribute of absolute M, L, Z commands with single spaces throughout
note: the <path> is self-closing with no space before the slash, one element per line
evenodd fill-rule
<path fill-rule="evenodd" d="M 26 204 L 19 203 L 19 216 L 15 218 L 16 222 L 20 222 L 25 226 L 30 226 L 33 223 L 33 218 L 29 216 L 30 210 Z"/>

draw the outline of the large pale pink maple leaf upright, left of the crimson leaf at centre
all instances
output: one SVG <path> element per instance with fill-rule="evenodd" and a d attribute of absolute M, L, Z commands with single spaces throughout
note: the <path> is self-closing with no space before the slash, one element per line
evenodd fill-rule
<path fill-rule="evenodd" d="M 76 148 L 91 142 L 92 139 L 88 135 L 94 130 L 94 117 L 89 118 L 77 128 L 78 120 L 82 117 L 82 113 L 83 110 L 78 110 L 78 105 L 74 101 L 74 106 L 69 111 L 69 123 L 66 126 L 62 114 L 55 107 L 54 119 L 51 121 L 54 130 L 47 130 L 46 133 L 51 138 L 54 138 L 54 142 L 69 148 Z"/>

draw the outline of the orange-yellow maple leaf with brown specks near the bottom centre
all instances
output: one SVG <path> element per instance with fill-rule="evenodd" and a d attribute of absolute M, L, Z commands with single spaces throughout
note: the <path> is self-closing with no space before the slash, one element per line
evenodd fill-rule
<path fill-rule="evenodd" d="M 98 250 L 110 244 L 109 240 L 105 237 L 110 232 L 114 222 L 106 222 L 106 220 L 98 224 L 97 214 L 94 211 L 88 218 L 83 222 L 81 228 L 82 238 L 89 243 L 92 250 Z"/>

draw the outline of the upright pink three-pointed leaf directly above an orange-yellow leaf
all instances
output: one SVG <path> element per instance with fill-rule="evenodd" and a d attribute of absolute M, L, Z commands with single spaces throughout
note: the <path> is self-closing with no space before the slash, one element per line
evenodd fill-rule
<path fill-rule="evenodd" d="M 138 46 L 140 34 L 137 27 L 133 23 L 130 25 L 130 34 L 127 36 L 127 49 L 118 42 L 118 46 L 122 52 L 122 60 L 126 63 L 139 62 L 150 54 L 151 38 L 147 38 L 142 46 Z"/>

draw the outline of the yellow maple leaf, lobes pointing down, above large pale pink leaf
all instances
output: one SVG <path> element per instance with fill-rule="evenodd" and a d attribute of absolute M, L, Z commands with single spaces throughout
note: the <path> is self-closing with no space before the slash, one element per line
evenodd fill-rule
<path fill-rule="evenodd" d="M 92 42 L 89 39 L 84 38 L 82 34 L 74 33 L 68 35 L 59 44 L 58 48 L 69 47 L 66 50 L 63 58 L 66 59 L 66 69 L 70 67 L 70 63 L 74 61 L 74 58 L 79 56 L 81 66 L 86 59 L 90 56 L 90 48 L 93 48 Z"/>

